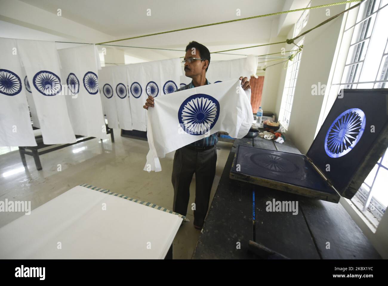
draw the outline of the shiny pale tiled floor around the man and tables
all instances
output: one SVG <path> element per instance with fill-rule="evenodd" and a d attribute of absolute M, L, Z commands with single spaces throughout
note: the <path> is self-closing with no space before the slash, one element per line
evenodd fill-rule
<path fill-rule="evenodd" d="M 174 152 L 160 159 L 162 171 L 143 171 L 149 150 L 147 141 L 120 136 L 114 130 L 115 143 L 92 139 L 54 152 L 40 155 L 43 170 L 37 171 L 32 156 L 26 155 L 24 169 L 19 151 L 0 155 L 0 200 L 31 201 L 31 209 L 50 201 L 81 183 L 88 183 L 112 192 L 152 202 L 172 210 L 171 171 Z M 217 170 L 213 182 L 213 199 L 232 143 L 217 143 Z M 61 164 L 62 171 L 57 171 Z M 191 258 L 199 230 L 193 227 L 191 203 L 195 198 L 195 175 L 190 187 L 187 218 L 174 240 L 174 258 Z M 0 227 L 24 213 L 0 213 Z"/>

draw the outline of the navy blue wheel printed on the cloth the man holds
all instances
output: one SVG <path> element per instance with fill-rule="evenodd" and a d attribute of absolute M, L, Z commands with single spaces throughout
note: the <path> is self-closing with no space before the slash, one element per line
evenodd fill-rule
<path fill-rule="evenodd" d="M 178 120 L 186 133 L 205 134 L 213 128 L 220 115 L 220 104 L 217 99 L 207 94 L 189 96 L 180 105 Z"/>

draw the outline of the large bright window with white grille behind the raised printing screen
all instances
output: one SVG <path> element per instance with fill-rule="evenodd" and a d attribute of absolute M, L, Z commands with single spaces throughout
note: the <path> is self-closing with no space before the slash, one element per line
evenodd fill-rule
<path fill-rule="evenodd" d="M 388 0 L 366 0 L 361 3 L 357 18 L 348 18 L 342 40 L 349 47 L 348 54 L 345 65 L 341 67 L 343 68 L 342 76 L 338 77 L 337 82 L 333 79 L 331 84 L 331 95 L 329 94 L 331 99 L 326 105 L 325 117 L 329 106 L 334 102 L 333 95 L 338 94 L 341 89 L 388 87 L 387 6 Z M 349 21 L 352 23 L 348 23 Z M 344 40 L 346 38 L 348 38 L 347 41 Z M 352 199 L 355 206 L 375 226 L 378 225 L 388 206 L 387 178 L 388 150 L 376 163 Z"/>

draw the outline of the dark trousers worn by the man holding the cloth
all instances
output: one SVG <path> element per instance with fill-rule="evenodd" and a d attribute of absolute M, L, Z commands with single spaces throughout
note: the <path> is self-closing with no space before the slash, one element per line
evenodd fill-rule
<path fill-rule="evenodd" d="M 187 214 L 190 198 L 190 183 L 196 178 L 194 225 L 203 226 L 209 208 L 211 185 L 216 172 L 216 146 L 196 152 L 182 147 L 175 151 L 171 181 L 174 187 L 173 211 Z M 191 204 L 190 204 L 191 206 Z"/>

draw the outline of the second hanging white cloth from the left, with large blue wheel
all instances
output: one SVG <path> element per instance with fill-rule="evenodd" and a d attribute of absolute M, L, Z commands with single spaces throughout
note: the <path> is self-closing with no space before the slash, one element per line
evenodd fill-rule
<path fill-rule="evenodd" d="M 16 40 L 17 51 L 26 70 L 43 142 L 75 143 L 65 95 L 62 94 L 61 70 L 55 42 Z"/>

